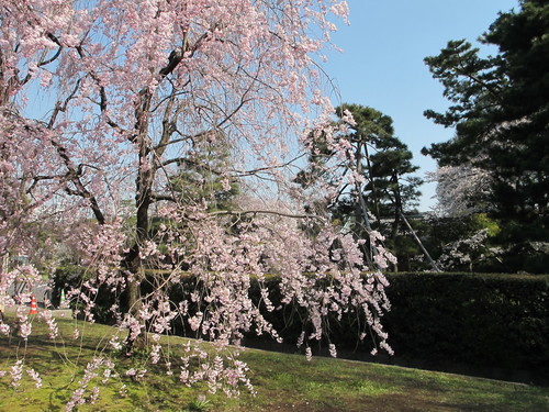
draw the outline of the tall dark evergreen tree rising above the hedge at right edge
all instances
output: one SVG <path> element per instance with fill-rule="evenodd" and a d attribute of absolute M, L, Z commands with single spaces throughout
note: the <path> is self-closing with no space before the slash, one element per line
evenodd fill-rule
<path fill-rule="evenodd" d="M 542 270 L 539 261 L 548 258 L 539 243 L 549 238 L 549 4 L 522 1 L 518 11 L 501 13 L 481 42 L 496 45 L 498 54 L 481 57 L 461 40 L 425 58 L 451 102 L 445 113 L 425 115 L 455 126 L 456 135 L 423 153 L 440 167 L 488 171 L 490 190 L 471 202 L 500 221 L 500 242 L 509 254 L 545 255 L 529 267 Z"/>

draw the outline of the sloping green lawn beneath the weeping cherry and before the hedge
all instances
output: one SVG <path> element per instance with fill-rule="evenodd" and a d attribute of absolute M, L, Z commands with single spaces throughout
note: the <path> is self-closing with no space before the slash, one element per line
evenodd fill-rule
<path fill-rule="evenodd" d="M 99 354 L 113 331 L 79 323 L 82 337 L 74 339 L 72 329 L 74 321 L 59 320 L 61 338 L 53 342 L 43 321 L 36 320 L 36 333 L 26 346 L 16 338 L 0 338 L 0 370 L 26 353 L 25 370 L 32 367 L 43 379 L 41 389 L 33 389 L 27 377 L 14 389 L 8 371 L 0 378 L 1 411 L 64 409 L 82 379 L 82 366 Z M 183 354 L 183 342 L 188 339 L 170 337 L 173 363 Z M 182 386 L 177 372 L 167 376 L 164 367 L 146 363 L 141 354 L 111 356 L 120 357 L 125 368 L 146 368 L 147 376 L 111 380 L 96 404 L 79 411 L 549 411 L 549 388 L 340 359 L 307 361 L 304 356 L 255 349 L 242 355 L 251 369 L 255 397 L 243 388 L 238 399 L 217 393 L 201 402 L 205 387 Z"/>

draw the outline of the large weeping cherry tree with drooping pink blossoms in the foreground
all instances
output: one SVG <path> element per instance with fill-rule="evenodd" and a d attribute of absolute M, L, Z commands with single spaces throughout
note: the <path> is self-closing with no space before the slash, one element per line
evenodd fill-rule
<path fill-rule="evenodd" d="M 92 322 L 98 290 L 107 289 L 117 319 L 109 345 L 131 354 L 147 337 L 150 361 L 165 363 L 169 375 L 176 370 L 163 357 L 160 336 L 172 333 L 176 319 L 222 347 L 238 345 L 250 330 L 277 337 L 261 315 L 274 310 L 270 291 L 261 289 L 261 307 L 248 293 L 251 275 L 262 285 L 273 271 L 281 275 L 283 301 L 306 310 L 313 325 L 303 338 L 307 347 L 323 336 L 326 316 L 355 308 L 391 350 L 379 322 L 389 309 L 386 280 L 379 271 L 360 276 L 369 268 L 357 242 L 302 211 L 305 193 L 290 179 L 296 151 L 310 145 L 312 131 L 324 133 L 335 151 L 345 149 L 340 138 L 335 144 L 329 137 L 334 110 L 317 68 L 336 30 L 330 19 L 347 18 L 345 1 L 1 4 L 0 257 L 31 254 L 33 223 L 57 219 L 63 226 L 56 235 L 66 237 L 91 275 L 68 298 Z M 231 151 L 223 162 L 192 156 L 204 141 L 217 140 Z M 268 201 L 224 211 L 210 208 L 208 190 L 181 196 L 184 188 L 176 191 L 173 178 L 186 165 L 208 170 L 226 191 L 238 181 L 242 199 Z M 163 222 L 154 231 L 153 219 Z M 42 246 L 54 247 L 55 238 Z M 163 275 L 150 279 L 147 267 Z M 15 280 L 37 280 L 32 265 L 1 270 L 0 292 Z M 170 301 L 168 291 L 183 272 L 194 275 L 200 289 Z M 43 313 L 55 339 L 55 319 Z M 16 322 L 21 338 L 32 339 L 25 312 Z M 13 333 L 7 326 L 0 332 Z M 186 350 L 180 382 L 206 381 L 211 391 L 229 393 L 243 382 L 250 387 L 246 365 L 228 349 L 214 357 L 194 344 Z M 98 377 L 107 383 L 115 376 L 109 354 L 89 359 L 67 410 L 97 399 L 99 387 L 90 388 Z M 194 360 L 204 366 L 197 369 Z M 40 385 L 31 361 L 18 360 L 2 375 L 15 386 L 26 370 Z"/>

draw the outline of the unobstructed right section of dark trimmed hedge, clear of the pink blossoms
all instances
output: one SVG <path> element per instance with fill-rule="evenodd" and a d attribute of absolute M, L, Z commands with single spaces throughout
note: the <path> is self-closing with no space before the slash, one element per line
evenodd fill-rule
<path fill-rule="evenodd" d="M 397 356 L 529 371 L 549 381 L 549 276 L 390 275 Z"/>

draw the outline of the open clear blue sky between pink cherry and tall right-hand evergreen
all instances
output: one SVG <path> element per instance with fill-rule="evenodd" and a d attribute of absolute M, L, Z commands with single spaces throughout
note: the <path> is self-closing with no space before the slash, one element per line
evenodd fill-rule
<path fill-rule="evenodd" d="M 343 54 L 330 53 L 325 68 L 338 87 L 340 102 L 370 105 L 390 115 L 395 135 L 414 154 L 419 174 L 435 170 L 422 147 L 453 135 L 423 116 L 423 111 L 444 111 L 448 101 L 442 86 L 424 64 L 449 40 L 475 44 L 498 11 L 518 9 L 518 0 L 347 0 L 350 25 L 339 24 L 334 43 Z M 482 47 L 481 47 L 482 48 Z M 497 49 L 488 49 L 495 54 Z M 419 209 L 435 204 L 435 185 L 422 187 Z"/>

